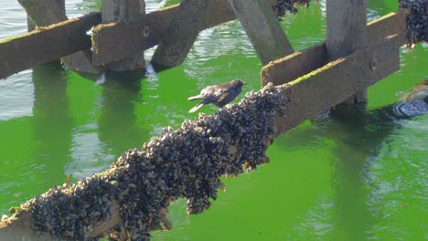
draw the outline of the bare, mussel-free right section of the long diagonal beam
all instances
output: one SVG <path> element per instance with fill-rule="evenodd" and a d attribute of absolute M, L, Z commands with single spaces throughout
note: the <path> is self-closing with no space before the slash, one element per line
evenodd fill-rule
<path fill-rule="evenodd" d="M 399 68 L 397 36 L 394 36 L 285 83 L 290 102 L 284 109 L 286 116 L 276 120 L 278 134 L 316 117 Z"/>

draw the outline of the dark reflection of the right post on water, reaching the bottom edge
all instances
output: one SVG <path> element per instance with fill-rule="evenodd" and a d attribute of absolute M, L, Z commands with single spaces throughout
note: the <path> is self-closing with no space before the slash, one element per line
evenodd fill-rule
<path fill-rule="evenodd" d="M 335 141 L 332 150 L 332 188 L 336 192 L 336 228 L 332 240 L 368 239 L 370 226 L 377 221 L 370 214 L 369 188 L 364 166 L 379 155 L 382 143 L 401 121 L 428 113 L 428 82 L 424 81 L 398 103 L 366 111 L 366 104 L 340 104 L 314 123 Z M 423 96 L 424 94 L 424 96 Z"/>

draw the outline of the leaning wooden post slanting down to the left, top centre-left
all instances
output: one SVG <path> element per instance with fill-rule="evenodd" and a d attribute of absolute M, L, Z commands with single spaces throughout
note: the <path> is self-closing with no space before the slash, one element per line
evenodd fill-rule
<path fill-rule="evenodd" d="M 180 3 L 153 55 L 152 63 L 156 68 L 172 68 L 184 62 L 205 22 L 206 13 L 216 11 L 213 2 L 216 1 L 183 0 Z"/>

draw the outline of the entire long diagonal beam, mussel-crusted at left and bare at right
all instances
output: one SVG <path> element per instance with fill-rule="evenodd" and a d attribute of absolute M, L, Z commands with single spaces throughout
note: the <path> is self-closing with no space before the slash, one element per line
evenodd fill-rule
<path fill-rule="evenodd" d="M 27 201 L 17 215 L 0 222 L 0 236 L 38 231 L 79 240 L 107 234 L 134 240 L 169 229 L 166 214 L 172 200 L 187 198 L 187 212 L 203 212 L 217 189 L 224 188 L 220 176 L 269 161 L 265 154 L 275 135 L 398 68 L 396 37 L 390 37 L 288 84 L 251 91 L 240 103 L 200 114 L 177 131 L 164 129 L 140 150 L 124 152 L 105 172 Z M 22 226 L 26 232 L 15 230 Z"/>

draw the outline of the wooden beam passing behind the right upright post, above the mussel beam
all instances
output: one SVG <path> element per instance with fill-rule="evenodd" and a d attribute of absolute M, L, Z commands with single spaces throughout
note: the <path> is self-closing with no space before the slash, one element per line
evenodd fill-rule
<path fill-rule="evenodd" d="M 407 10 L 400 9 L 397 13 L 381 16 L 367 25 L 368 45 L 375 45 L 385 37 L 398 35 L 399 45 L 407 44 L 406 17 Z M 282 85 L 303 76 L 316 68 L 328 63 L 326 43 L 309 47 L 290 56 L 279 58 L 262 68 L 262 86 L 272 82 L 273 85 Z"/>

